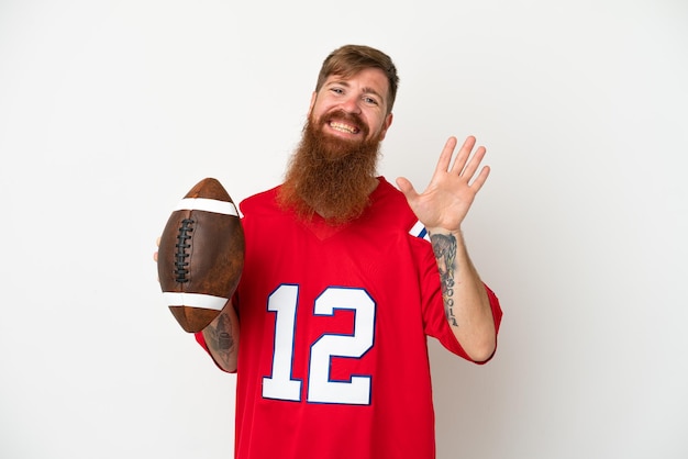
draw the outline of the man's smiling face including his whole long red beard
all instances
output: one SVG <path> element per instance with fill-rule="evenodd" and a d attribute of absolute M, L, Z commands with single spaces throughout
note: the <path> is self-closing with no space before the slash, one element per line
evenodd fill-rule
<path fill-rule="evenodd" d="M 333 224 L 356 219 L 369 203 L 379 144 L 391 124 L 389 82 L 381 70 L 331 76 L 313 93 L 301 143 L 280 190 L 301 217 L 320 214 Z"/>

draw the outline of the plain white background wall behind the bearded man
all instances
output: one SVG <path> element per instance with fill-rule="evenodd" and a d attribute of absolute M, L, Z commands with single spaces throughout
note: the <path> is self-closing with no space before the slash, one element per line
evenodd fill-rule
<path fill-rule="evenodd" d="M 465 234 L 504 322 L 485 367 L 432 342 L 439 458 L 688 457 L 688 3 L 2 0 L 2 458 L 231 457 L 155 238 L 203 177 L 281 180 L 346 43 L 399 68 L 390 180 L 488 147 Z"/>

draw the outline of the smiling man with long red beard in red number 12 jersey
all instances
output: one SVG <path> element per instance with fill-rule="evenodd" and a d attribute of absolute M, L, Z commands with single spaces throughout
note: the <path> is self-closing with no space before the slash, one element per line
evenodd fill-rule
<path fill-rule="evenodd" d="M 335 49 L 285 182 L 241 204 L 242 280 L 197 334 L 237 373 L 237 458 L 433 458 L 426 336 L 495 351 L 499 302 L 460 233 L 485 148 L 468 137 L 452 161 L 450 138 L 423 193 L 378 177 L 398 81 L 386 54 Z"/>

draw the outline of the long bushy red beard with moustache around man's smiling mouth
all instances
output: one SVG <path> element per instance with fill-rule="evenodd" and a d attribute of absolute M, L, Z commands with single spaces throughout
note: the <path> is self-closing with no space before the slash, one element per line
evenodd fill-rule
<path fill-rule="evenodd" d="M 279 202 L 303 220 L 318 213 L 329 223 L 340 225 L 359 216 L 369 203 L 376 184 L 380 138 L 378 135 L 347 142 L 324 134 L 323 126 L 333 114 L 358 126 L 363 137 L 367 137 L 368 128 L 356 115 L 331 113 L 319 123 L 309 119 L 289 163 Z"/>

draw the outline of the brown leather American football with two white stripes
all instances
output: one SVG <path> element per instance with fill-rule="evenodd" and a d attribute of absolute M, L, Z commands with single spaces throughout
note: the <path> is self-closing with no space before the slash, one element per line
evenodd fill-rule
<path fill-rule="evenodd" d="M 243 267 L 236 206 L 217 179 L 206 178 L 173 210 L 157 255 L 163 298 L 186 332 L 202 331 L 220 314 Z"/>

